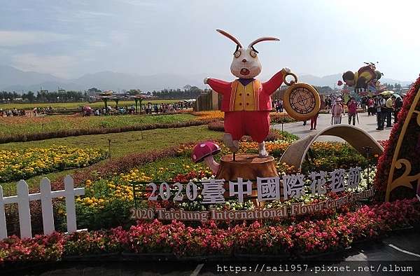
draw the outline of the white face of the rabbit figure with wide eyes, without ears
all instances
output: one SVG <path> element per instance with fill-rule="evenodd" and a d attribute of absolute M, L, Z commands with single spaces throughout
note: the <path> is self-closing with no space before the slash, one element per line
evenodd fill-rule
<path fill-rule="evenodd" d="M 252 48 L 239 48 L 233 54 L 230 71 L 238 78 L 254 78 L 261 73 L 261 63 L 258 54 Z"/>

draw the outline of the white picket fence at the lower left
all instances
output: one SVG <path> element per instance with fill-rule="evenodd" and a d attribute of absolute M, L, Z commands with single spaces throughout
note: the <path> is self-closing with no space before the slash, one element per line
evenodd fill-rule
<path fill-rule="evenodd" d="M 85 188 L 74 188 L 73 178 L 67 175 L 64 178 L 64 190 L 51 191 L 50 179 L 43 178 L 39 185 L 40 193 L 29 194 L 28 184 L 20 180 L 17 186 L 18 195 L 3 198 L 3 187 L 0 186 L 0 239 L 7 237 L 6 214 L 4 205 L 18 203 L 20 237 L 32 237 L 31 212 L 29 201 L 41 200 L 43 233 L 48 235 L 54 232 L 54 215 L 52 213 L 52 198 L 66 198 L 67 232 L 76 232 L 76 195 L 84 195 Z"/>

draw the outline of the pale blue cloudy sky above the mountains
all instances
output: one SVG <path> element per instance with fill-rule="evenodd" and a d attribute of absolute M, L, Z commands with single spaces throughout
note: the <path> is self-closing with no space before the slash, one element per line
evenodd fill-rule
<path fill-rule="evenodd" d="M 419 1 L 2 1 L 0 64 L 76 78 L 97 71 L 230 75 L 235 45 L 260 36 L 262 78 L 325 76 L 379 62 L 420 73 Z M 346 3 L 350 2 L 350 3 Z M 233 76 L 232 76 L 233 78 Z"/>

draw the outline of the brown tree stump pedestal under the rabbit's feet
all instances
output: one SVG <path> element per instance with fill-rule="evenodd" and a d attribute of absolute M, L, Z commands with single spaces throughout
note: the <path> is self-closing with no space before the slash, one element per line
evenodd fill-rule
<path fill-rule="evenodd" d="M 235 161 L 232 154 L 221 158 L 221 165 L 216 174 L 216 179 L 225 179 L 225 198 L 229 197 L 229 181 L 237 182 L 238 177 L 244 180 L 253 181 L 252 197 L 256 203 L 257 177 L 278 177 L 274 157 L 267 156 L 260 158 L 258 154 L 241 153 L 237 154 Z M 246 200 L 244 198 L 244 200 Z"/>

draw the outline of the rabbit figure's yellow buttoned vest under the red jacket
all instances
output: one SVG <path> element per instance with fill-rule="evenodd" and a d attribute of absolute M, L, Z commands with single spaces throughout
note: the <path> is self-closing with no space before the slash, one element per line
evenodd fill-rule
<path fill-rule="evenodd" d="M 247 85 L 242 85 L 240 81 L 234 81 L 232 94 L 230 95 L 230 110 L 232 111 L 256 111 L 258 106 L 258 88 L 261 82 L 251 81 Z"/>

